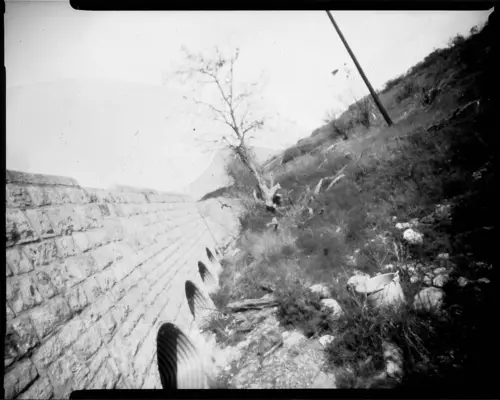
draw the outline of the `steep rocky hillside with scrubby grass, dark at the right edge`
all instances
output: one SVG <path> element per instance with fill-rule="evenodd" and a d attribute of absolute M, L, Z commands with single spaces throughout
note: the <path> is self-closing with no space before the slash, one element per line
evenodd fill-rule
<path fill-rule="evenodd" d="M 276 214 L 239 186 L 220 385 L 493 396 L 497 14 L 267 163 Z"/>

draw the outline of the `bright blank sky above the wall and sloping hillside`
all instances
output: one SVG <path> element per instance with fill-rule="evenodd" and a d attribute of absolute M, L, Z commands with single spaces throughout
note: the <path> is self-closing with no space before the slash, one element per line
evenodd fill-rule
<path fill-rule="evenodd" d="M 489 15 L 332 13 L 375 88 Z M 7 168 L 90 187 L 186 190 L 215 154 L 202 139 L 227 131 L 190 101 L 201 87 L 174 71 L 182 47 L 213 54 L 214 46 L 240 49 L 236 84 L 261 84 L 257 146 L 281 150 L 367 92 L 323 11 L 89 12 L 7 1 Z"/>

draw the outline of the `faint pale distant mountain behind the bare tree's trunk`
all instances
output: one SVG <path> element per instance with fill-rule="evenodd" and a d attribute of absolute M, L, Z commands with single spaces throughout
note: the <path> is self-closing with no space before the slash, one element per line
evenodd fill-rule
<path fill-rule="evenodd" d="M 281 148 L 260 146 L 253 147 L 252 149 L 255 153 L 256 161 L 260 164 L 264 163 L 271 156 L 283 151 Z M 198 200 L 209 192 L 229 185 L 231 182 L 225 173 L 225 165 L 230 156 L 231 152 L 229 150 L 218 150 L 205 171 L 191 182 L 184 191 Z"/>

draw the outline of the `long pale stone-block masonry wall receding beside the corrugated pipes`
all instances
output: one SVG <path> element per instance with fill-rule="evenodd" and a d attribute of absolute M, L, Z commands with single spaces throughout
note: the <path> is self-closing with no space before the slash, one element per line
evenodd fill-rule
<path fill-rule="evenodd" d="M 161 388 L 159 329 L 202 343 L 215 246 L 184 195 L 7 171 L 4 398 Z"/>

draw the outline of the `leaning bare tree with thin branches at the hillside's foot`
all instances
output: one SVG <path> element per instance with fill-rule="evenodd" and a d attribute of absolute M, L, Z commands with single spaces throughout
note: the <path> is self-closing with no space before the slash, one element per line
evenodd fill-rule
<path fill-rule="evenodd" d="M 218 48 L 215 48 L 215 56 L 210 58 L 191 54 L 187 49 L 183 50 L 186 54 L 186 64 L 177 74 L 194 80 L 200 89 L 207 85 L 215 89 L 215 98 L 208 101 L 200 100 L 200 96 L 193 96 L 195 104 L 210 110 L 212 119 L 226 127 L 220 138 L 211 142 L 231 149 L 240 158 L 257 181 L 259 197 L 268 208 L 274 210 L 273 198 L 280 185 L 273 185 L 272 180 L 267 185 L 248 146 L 248 141 L 253 138 L 251 134 L 264 126 L 264 119 L 257 118 L 252 112 L 251 99 L 255 96 L 257 83 L 242 90 L 235 87 L 234 67 L 239 57 L 239 49 L 236 49 L 232 56 L 224 57 Z"/>

